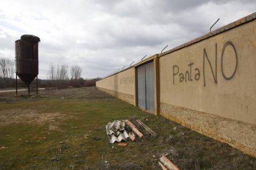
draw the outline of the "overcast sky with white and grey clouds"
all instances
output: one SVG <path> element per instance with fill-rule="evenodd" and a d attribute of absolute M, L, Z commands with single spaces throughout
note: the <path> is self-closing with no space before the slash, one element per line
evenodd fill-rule
<path fill-rule="evenodd" d="M 14 59 L 22 34 L 40 37 L 39 75 L 49 64 L 79 65 L 95 78 L 252 14 L 255 0 L 1 0 L 0 57 Z"/>

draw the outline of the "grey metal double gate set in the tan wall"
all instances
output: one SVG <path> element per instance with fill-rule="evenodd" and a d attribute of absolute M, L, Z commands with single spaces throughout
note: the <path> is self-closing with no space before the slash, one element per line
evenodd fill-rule
<path fill-rule="evenodd" d="M 154 65 L 145 63 L 137 68 L 138 105 L 144 110 L 154 112 Z"/>

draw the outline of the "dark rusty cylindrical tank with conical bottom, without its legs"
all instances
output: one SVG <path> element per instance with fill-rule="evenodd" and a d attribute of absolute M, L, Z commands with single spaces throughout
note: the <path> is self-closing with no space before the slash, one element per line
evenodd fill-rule
<path fill-rule="evenodd" d="M 40 38 L 28 34 L 15 41 L 16 73 L 27 86 L 38 75 L 38 42 Z"/>

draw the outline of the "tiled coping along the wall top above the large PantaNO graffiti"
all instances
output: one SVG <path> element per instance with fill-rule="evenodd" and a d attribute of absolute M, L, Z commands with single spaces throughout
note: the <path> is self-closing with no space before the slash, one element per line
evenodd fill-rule
<path fill-rule="evenodd" d="M 179 49 L 183 49 L 184 47 L 191 46 L 192 44 L 195 44 L 197 42 L 203 41 L 205 39 L 211 38 L 213 36 L 216 36 L 217 34 L 223 33 L 224 31 L 231 30 L 233 28 L 236 28 L 237 26 L 241 26 L 245 23 L 252 22 L 256 19 L 256 12 L 253 14 L 247 15 L 246 17 L 243 17 L 235 22 L 229 23 L 228 25 L 222 26 L 221 28 L 218 28 L 217 30 L 211 31 L 210 33 L 207 33 L 203 36 L 200 36 L 198 38 L 195 38 L 189 42 L 186 42 L 184 44 L 181 44 L 180 46 L 174 47 L 173 49 L 163 52 L 161 54 L 158 54 L 158 57 L 163 57 L 163 55 L 169 54 L 171 52 L 177 51 Z"/>

